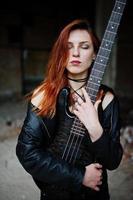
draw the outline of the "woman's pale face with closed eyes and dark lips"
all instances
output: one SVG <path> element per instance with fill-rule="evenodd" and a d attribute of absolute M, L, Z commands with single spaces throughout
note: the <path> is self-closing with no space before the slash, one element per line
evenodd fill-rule
<path fill-rule="evenodd" d="M 69 77 L 85 78 L 95 58 L 93 43 L 86 30 L 73 30 L 68 38 L 69 58 L 66 69 Z"/>

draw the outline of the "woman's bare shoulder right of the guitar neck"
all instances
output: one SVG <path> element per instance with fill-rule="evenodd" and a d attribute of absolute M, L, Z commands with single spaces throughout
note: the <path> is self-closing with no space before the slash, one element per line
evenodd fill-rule
<path fill-rule="evenodd" d="M 102 89 L 104 91 L 104 98 L 102 101 L 102 107 L 103 110 L 112 102 L 112 100 L 114 99 L 114 91 L 112 88 L 106 86 L 106 85 L 101 85 L 100 89 Z"/>

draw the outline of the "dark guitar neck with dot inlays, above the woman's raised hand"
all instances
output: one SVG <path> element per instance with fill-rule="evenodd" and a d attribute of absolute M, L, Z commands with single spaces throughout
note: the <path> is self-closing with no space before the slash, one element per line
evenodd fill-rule
<path fill-rule="evenodd" d="M 96 101 L 97 93 L 109 60 L 125 4 L 126 0 L 118 0 L 115 2 L 90 77 L 87 81 L 86 90 L 93 103 Z"/>

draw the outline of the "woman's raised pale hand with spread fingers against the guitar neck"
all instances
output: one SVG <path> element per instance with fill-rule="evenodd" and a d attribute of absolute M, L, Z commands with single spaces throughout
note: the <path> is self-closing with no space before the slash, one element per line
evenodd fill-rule
<path fill-rule="evenodd" d="M 86 90 L 82 88 L 83 99 L 76 96 L 76 102 L 74 107 L 74 114 L 80 119 L 88 130 L 91 140 L 96 141 L 103 132 L 102 126 L 98 119 L 98 105 L 101 100 L 98 100 L 93 105 L 90 97 L 88 96 Z"/>

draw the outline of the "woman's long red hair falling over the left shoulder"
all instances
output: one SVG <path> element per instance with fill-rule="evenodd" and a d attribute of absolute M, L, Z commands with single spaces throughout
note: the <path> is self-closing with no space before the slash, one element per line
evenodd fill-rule
<path fill-rule="evenodd" d="M 43 94 L 38 115 L 53 117 L 56 111 L 56 100 L 59 91 L 68 85 L 65 70 L 69 56 L 67 43 L 70 32 L 75 29 L 87 30 L 91 36 L 94 51 L 95 53 L 98 52 L 99 39 L 86 19 L 77 19 L 65 26 L 52 48 L 47 64 L 46 78 L 33 91 L 31 96 L 33 98 L 35 95 Z"/>

